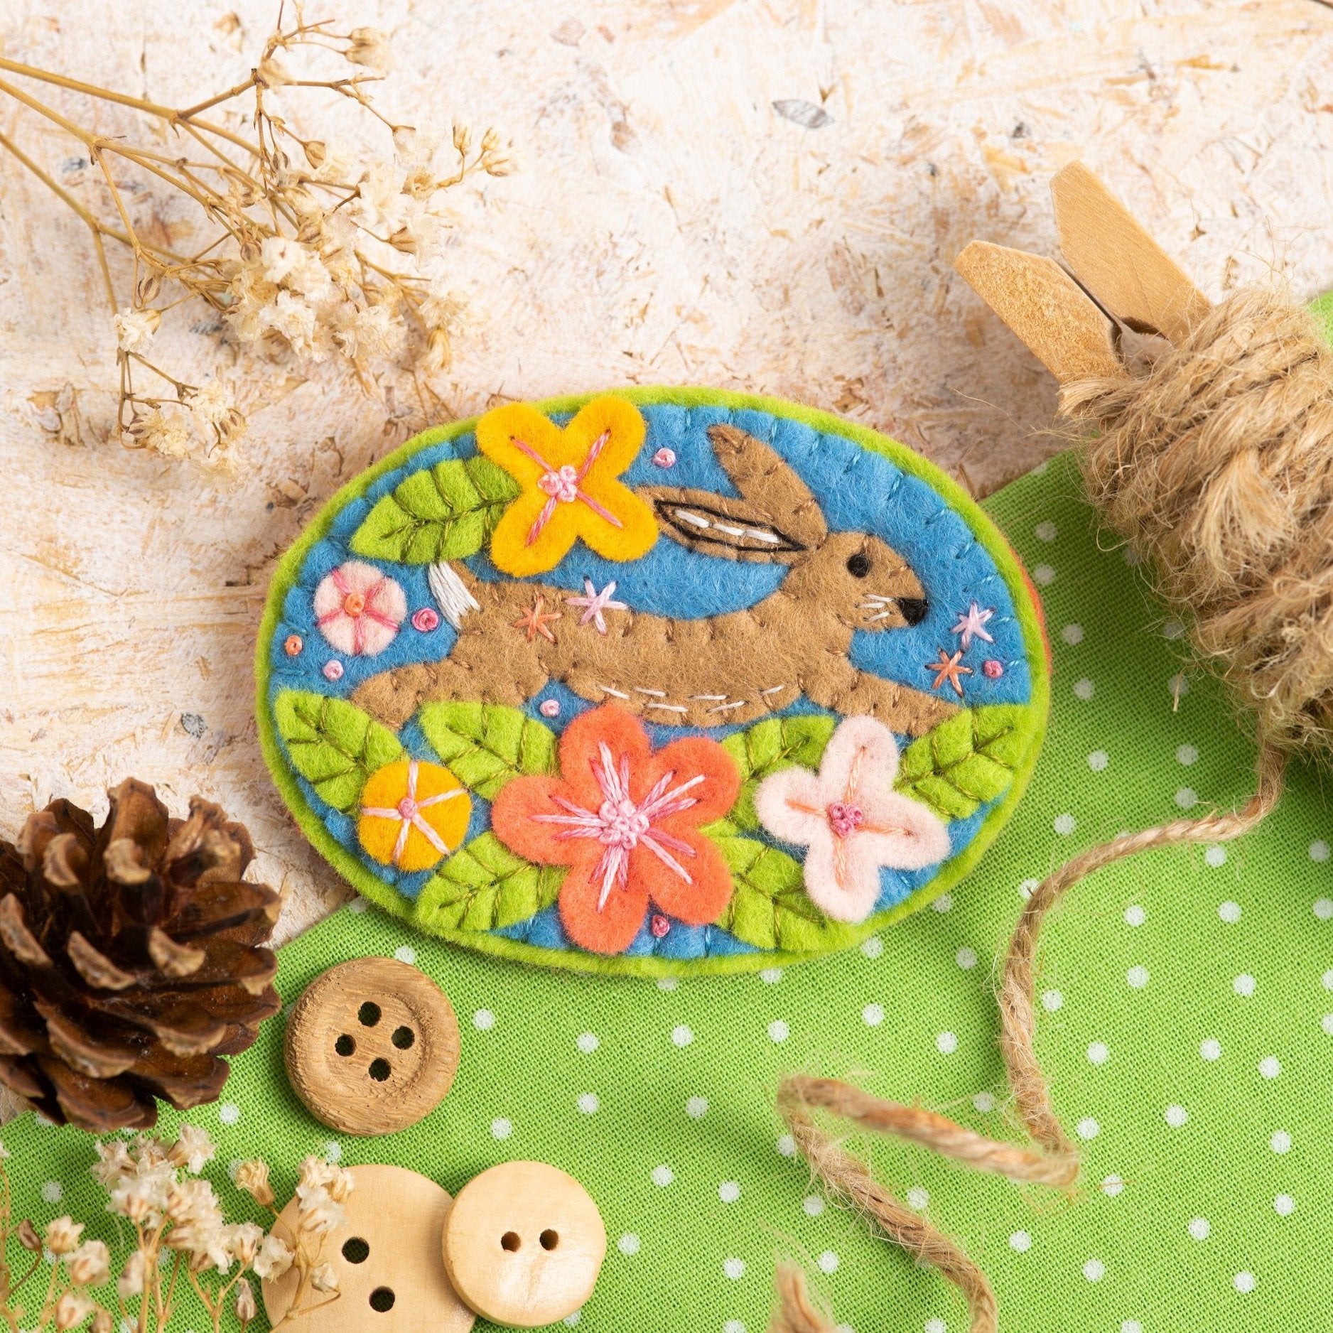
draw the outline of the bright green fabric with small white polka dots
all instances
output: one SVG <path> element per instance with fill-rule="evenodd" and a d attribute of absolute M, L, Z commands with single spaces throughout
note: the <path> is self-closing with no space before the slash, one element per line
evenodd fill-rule
<path fill-rule="evenodd" d="M 357 954 L 415 962 L 459 1012 L 453 1092 L 400 1134 L 335 1134 L 288 1089 L 275 1018 L 224 1100 L 187 1117 L 220 1145 L 229 1214 L 249 1216 L 227 1164 L 255 1154 L 280 1197 L 305 1153 L 399 1162 L 451 1192 L 533 1157 L 584 1181 L 607 1222 L 601 1280 L 569 1325 L 761 1333 L 785 1254 L 844 1333 L 961 1333 L 937 1273 L 812 1185 L 772 1109 L 778 1078 L 850 1076 L 1018 1137 L 993 976 L 1022 894 L 1120 829 L 1244 798 L 1253 757 L 1217 685 L 1182 665 L 1180 627 L 1098 533 L 1069 459 L 986 508 L 1041 588 L 1054 684 L 1029 794 L 982 865 L 856 949 L 740 980 L 527 969 L 355 904 L 283 950 L 279 988 L 292 1001 Z M 1297 772 L 1245 840 L 1153 853 L 1072 893 L 1044 937 L 1038 1049 L 1081 1141 L 1076 1197 L 852 1140 L 989 1273 L 1002 1329 L 1290 1333 L 1329 1308 L 1330 842 L 1320 778 Z M 72 1210 L 115 1242 L 91 1138 L 29 1116 L 4 1141 L 20 1213 Z"/>

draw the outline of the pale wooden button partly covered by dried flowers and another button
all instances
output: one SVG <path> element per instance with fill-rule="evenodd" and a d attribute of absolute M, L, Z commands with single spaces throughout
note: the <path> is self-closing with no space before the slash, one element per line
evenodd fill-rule
<path fill-rule="evenodd" d="M 352 1166 L 356 1185 L 343 1208 L 347 1221 L 324 1237 L 319 1261 L 339 1278 L 339 1297 L 323 1309 L 292 1317 L 292 1333 L 467 1333 L 476 1321 L 449 1285 L 440 1262 L 440 1228 L 449 1196 L 433 1180 L 401 1166 Z M 296 1237 L 296 1200 L 273 1230 Z M 307 1241 L 312 1244 L 312 1241 Z M 287 1314 L 297 1272 L 264 1282 L 271 1324 Z M 307 1288 L 301 1309 L 328 1301 Z"/>

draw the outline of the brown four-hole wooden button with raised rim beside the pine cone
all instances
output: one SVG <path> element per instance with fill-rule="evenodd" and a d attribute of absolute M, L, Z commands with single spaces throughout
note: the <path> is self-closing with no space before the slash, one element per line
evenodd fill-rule
<path fill-rule="evenodd" d="M 348 1134 L 392 1134 L 428 1116 L 459 1068 L 444 992 L 396 958 L 353 958 L 296 1002 L 287 1077 L 311 1114 Z"/>

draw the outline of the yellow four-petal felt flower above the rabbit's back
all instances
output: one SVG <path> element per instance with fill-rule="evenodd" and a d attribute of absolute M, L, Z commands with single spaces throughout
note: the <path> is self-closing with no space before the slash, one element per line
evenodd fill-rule
<path fill-rule="evenodd" d="M 652 507 L 620 475 L 645 425 L 624 399 L 593 399 L 564 429 L 527 403 L 488 412 L 477 448 L 523 487 L 491 536 L 491 559 L 521 577 L 553 569 L 575 540 L 608 560 L 637 560 L 657 540 Z"/>

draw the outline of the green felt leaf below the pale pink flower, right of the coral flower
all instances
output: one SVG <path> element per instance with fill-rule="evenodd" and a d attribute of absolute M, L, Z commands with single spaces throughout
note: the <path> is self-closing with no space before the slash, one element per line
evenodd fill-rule
<path fill-rule="evenodd" d="M 733 888 L 717 924 L 737 940 L 758 949 L 810 953 L 854 938 L 849 926 L 830 921 L 810 901 L 800 862 L 785 852 L 749 837 L 718 837 L 717 845 Z"/>

